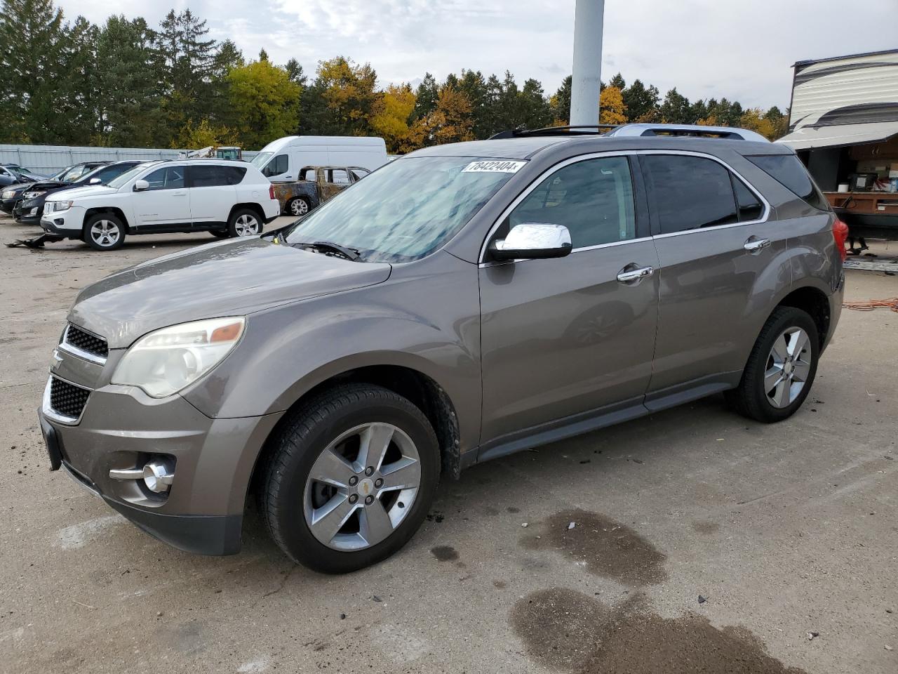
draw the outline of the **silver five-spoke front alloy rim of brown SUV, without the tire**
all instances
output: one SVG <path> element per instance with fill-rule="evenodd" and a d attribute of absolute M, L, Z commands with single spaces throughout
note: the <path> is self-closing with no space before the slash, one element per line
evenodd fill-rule
<path fill-rule="evenodd" d="M 334 550 L 353 551 L 390 537 L 421 483 L 418 448 L 390 423 L 366 423 L 327 446 L 305 484 L 305 522 Z"/>

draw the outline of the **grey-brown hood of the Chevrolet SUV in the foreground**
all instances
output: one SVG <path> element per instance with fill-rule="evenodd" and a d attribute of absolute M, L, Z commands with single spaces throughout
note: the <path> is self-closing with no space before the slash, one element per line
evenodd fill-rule
<path fill-rule="evenodd" d="M 385 262 L 350 262 L 268 239 L 223 241 L 144 262 L 84 288 L 68 320 L 105 337 L 110 349 L 122 349 L 168 325 L 247 315 L 382 283 L 391 269 Z"/>

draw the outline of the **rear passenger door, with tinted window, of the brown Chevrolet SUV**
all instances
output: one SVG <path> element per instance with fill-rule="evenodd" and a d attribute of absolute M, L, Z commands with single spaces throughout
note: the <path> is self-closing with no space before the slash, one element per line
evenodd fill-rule
<path fill-rule="evenodd" d="M 774 291 L 789 283 L 778 263 L 787 233 L 760 192 L 715 157 L 639 160 L 661 265 L 652 407 L 687 388 L 738 382 L 759 316 L 763 324 Z"/>

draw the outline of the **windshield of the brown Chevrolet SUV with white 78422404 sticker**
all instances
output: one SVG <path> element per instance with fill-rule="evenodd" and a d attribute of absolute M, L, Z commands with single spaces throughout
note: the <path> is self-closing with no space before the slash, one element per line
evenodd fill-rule
<path fill-rule="evenodd" d="M 445 244 L 522 161 L 406 157 L 386 164 L 297 220 L 287 244 L 327 241 L 365 262 L 411 262 Z"/>

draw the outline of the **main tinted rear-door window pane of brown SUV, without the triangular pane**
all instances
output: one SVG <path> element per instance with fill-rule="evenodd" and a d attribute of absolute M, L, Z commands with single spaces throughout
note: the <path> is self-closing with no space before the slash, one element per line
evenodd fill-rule
<path fill-rule="evenodd" d="M 686 155 L 641 159 L 661 234 L 738 221 L 730 172 L 722 164 Z"/>

